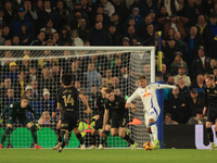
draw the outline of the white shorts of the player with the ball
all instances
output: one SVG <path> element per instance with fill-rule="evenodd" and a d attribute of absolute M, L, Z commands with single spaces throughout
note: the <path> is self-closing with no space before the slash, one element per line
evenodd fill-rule
<path fill-rule="evenodd" d="M 144 121 L 145 121 L 146 127 L 150 127 L 149 120 L 153 118 L 156 122 L 159 113 L 161 113 L 159 108 L 151 108 L 151 109 L 145 111 Z"/>

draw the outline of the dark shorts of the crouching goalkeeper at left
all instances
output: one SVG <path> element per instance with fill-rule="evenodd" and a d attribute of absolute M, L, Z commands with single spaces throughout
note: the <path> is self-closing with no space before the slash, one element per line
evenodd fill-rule
<path fill-rule="evenodd" d="M 16 120 L 18 121 L 20 124 L 22 124 L 23 126 L 26 126 L 28 123 L 30 123 L 31 121 L 28 118 L 27 115 L 10 115 L 9 120 L 8 120 L 8 124 L 13 125 Z"/>

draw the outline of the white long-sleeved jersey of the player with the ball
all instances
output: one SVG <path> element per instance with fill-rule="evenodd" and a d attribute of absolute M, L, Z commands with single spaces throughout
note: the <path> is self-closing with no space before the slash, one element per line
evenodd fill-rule
<path fill-rule="evenodd" d="M 156 98 L 156 89 L 163 89 L 163 88 L 173 88 L 175 89 L 176 86 L 170 85 L 162 85 L 162 84 L 150 84 L 145 88 L 138 87 L 138 89 L 133 92 L 131 97 L 127 100 L 127 102 L 131 102 L 132 100 L 137 99 L 138 97 L 141 98 L 144 111 L 152 109 L 152 108 L 159 108 L 157 98 Z"/>

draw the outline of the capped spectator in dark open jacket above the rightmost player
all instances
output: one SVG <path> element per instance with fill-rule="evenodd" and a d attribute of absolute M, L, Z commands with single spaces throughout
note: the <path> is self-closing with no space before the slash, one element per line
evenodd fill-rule
<path fill-rule="evenodd" d="M 197 57 L 192 61 L 193 77 L 196 77 L 199 74 L 204 73 L 212 74 L 210 58 L 205 55 L 204 47 L 200 46 L 197 51 Z"/>

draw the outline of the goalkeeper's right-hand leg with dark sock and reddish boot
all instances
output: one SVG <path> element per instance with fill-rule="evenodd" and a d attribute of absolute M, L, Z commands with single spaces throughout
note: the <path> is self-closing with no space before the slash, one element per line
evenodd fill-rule
<path fill-rule="evenodd" d="M 36 126 L 33 124 L 33 122 L 30 122 L 29 118 L 25 117 L 23 118 L 23 123 L 20 120 L 20 123 L 22 123 L 23 125 L 26 124 L 27 128 L 30 130 L 31 137 L 34 139 L 34 143 L 35 143 L 35 149 L 42 149 L 39 145 L 38 145 L 38 138 L 37 138 L 37 128 Z"/>

